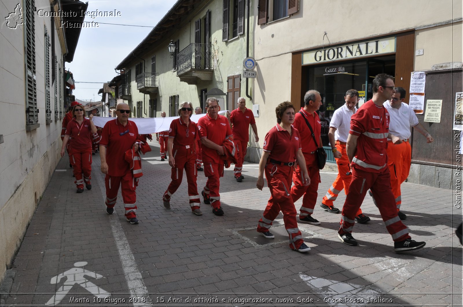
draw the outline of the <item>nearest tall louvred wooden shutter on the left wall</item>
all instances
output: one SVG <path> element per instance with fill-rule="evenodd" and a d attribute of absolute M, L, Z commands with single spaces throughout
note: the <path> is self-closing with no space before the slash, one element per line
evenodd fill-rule
<path fill-rule="evenodd" d="M 35 63 L 35 1 L 25 0 L 26 47 L 26 125 L 38 123 L 37 81 Z"/>

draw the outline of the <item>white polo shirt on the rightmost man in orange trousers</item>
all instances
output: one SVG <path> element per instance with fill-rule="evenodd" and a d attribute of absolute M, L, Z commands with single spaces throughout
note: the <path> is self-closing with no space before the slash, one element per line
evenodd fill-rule
<path fill-rule="evenodd" d="M 418 117 L 413 109 L 403 102 L 399 109 L 394 109 L 389 100 L 386 100 L 383 106 L 389 113 L 389 132 L 400 137 L 400 140 L 409 139 L 412 135 L 410 127 L 418 124 Z"/>

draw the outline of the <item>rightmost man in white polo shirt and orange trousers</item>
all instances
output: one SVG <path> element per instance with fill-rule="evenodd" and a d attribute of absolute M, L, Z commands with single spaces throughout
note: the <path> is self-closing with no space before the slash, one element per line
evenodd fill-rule
<path fill-rule="evenodd" d="M 384 107 L 388 110 L 390 117 L 389 132 L 398 136 L 402 143 L 393 144 L 388 139 L 388 167 L 389 172 L 391 172 L 391 188 L 397 206 L 397 214 L 400 220 L 405 220 L 407 215 L 400 211 L 400 204 L 402 203 L 400 184 L 407 179 L 412 164 L 412 147 L 409 142 L 412 135 L 410 127 L 424 135 L 427 143 L 432 143 L 434 139 L 425 127 L 418 122 L 413 109 L 404 103 L 405 89 L 403 87 L 394 87 L 394 91 L 391 100 L 384 102 Z"/>

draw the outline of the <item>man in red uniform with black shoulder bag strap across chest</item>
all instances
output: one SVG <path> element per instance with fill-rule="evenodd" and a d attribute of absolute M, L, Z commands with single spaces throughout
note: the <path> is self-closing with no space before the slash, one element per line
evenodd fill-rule
<path fill-rule="evenodd" d="M 304 95 L 304 107 L 300 109 L 294 117 L 294 128 L 299 130 L 302 143 L 302 154 L 306 159 L 307 172 L 310 176 L 310 185 L 304 185 L 302 182 L 302 173 L 299 165 L 296 166 L 293 174 L 294 186 L 291 188 L 291 196 L 294 203 L 302 198 L 302 206 L 300 207 L 299 221 L 312 225 L 319 225 L 320 222 L 312 217 L 313 208 L 317 203 L 317 190 L 320 180 L 320 170 L 318 168 L 317 149 L 322 147 L 320 132 L 321 123 L 317 114 L 317 110 L 322 105 L 321 96 L 318 91 L 310 90 Z M 307 123 L 312 127 L 315 135 L 315 140 L 312 136 Z"/>

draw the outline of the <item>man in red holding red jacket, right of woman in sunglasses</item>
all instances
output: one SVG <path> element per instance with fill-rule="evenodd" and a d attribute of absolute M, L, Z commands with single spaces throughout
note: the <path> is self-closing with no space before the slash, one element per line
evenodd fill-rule
<path fill-rule="evenodd" d="M 201 139 L 202 158 L 204 162 L 204 175 L 207 177 L 206 186 L 201 192 L 204 203 L 210 203 L 215 215 L 223 215 L 220 208 L 220 177 L 224 176 L 225 161 L 220 158 L 224 155 L 222 143 L 225 139 L 233 141 L 232 129 L 225 116 L 219 115 L 217 98 L 206 100 L 207 114 L 198 121 L 198 132 Z"/>

